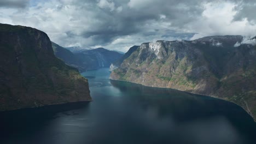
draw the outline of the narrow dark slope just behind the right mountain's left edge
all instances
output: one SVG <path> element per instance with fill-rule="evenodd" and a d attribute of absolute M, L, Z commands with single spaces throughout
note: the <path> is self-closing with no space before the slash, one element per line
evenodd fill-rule
<path fill-rule="evenodd" d="M 110 71 L 113 71 L 114 69 L 117 69 L 118 67 L 120 67 L 121 63 L 123 63 L 124 59 L 130 57 L 130 55 L 132 54 L 132 52 L 136 51 L 138 49 L 139 46 L 135 45 L 135 46 L 132 46 L 129 51 L 127 51 L 123 57 L 117 59 L 117 61 L 113 62 L 111 65 L 110 65 L 110 68 L 109 70 Z"/>

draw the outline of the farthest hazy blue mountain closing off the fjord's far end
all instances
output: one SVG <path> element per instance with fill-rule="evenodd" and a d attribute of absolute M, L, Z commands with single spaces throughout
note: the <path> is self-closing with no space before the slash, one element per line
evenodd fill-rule
<path fill-rule="evenodd" d="M 100 47 L 75 53 L 75 56 L 82 62 L 81 67 L 86 69 L 98 69 L 109 67 L 111 63 L 117 61 L 123 54 Z"/>

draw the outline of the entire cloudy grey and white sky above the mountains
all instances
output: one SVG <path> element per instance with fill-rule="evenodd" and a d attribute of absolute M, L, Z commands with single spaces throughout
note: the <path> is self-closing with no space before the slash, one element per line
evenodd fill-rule
<path fill-rule="evenodd" d="M 1 0 L 0 23 L 40 29 L 65 47 L 127 51 L 156 40 L 256 35 L 256 1 Z"/>

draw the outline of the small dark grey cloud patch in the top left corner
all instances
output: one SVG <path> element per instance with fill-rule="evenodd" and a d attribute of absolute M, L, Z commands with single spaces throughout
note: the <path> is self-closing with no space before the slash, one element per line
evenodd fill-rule
<path fill-rule="evenodd" d="M 25 8 L 30 0 L 1 0 L 0 7 L 5 8 Z"/>

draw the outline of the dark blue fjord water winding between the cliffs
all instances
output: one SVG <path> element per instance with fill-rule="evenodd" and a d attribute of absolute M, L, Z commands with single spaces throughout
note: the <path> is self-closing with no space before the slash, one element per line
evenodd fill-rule
<path fill-rule="evenodd" d="M 240 106 L 173 89 L 88 77 L 90 103 L 0 113 L 0 143 L 256 143 Z"/>

